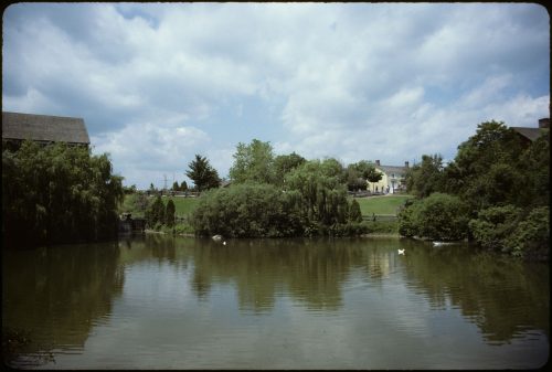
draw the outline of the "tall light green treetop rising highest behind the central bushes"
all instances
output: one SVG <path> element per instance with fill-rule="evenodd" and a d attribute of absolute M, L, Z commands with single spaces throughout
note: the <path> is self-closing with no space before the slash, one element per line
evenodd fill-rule
<path fill-rule="evenodd" d="M 230 179 L 234 183 L 274 183 L 274 153 L 270 142 L 253 139 L 250 145 L 237 144 L 230 168 Z"/>

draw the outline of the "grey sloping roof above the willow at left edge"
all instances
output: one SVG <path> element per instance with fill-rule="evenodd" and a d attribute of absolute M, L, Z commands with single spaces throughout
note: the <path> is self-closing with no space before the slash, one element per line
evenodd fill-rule
<path fill-rule="evenodd" d="M 89 145 L 84 119 L 2 111 L 2 139 Z"/>

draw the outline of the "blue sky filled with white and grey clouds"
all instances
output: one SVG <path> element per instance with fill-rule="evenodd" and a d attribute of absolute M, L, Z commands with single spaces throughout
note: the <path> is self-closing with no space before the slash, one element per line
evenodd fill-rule
<path fill-rule="evenodd" d="M 445 160 L 488 120 L 550 116 L 533 3 L 15 3 L 2 110 L 81 117 L 124 184 L 227 178 L 237 144 L 344 166 Z"/>

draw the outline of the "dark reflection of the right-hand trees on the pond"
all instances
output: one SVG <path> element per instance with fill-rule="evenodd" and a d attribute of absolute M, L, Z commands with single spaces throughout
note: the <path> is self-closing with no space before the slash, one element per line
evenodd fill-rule
<path fill-rule="evenodd" d="M 408 283 L 435 308 L 461 310 L 488 342 L 503 343 L 527 329 L 550 337 L 549 267 L 512 261 L 474 247 L 417 246 L 405 262 Z"/>

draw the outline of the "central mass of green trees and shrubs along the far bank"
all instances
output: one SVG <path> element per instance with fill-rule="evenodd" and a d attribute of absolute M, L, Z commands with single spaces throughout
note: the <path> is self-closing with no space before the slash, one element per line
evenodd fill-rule
<path fill-rule="evenodd" d="M 195 161 L 189 164 L 189 174 L 199 168 L 199 160 L 202 169 L 211 169 L 206 158 L 197 155 Z M 374 169 L 368 161 L 346 168 L 332 158 L 306 160 L 295 152 L 274 156 L 269 142 L 254 139 L 250 145 L 238 144 L 230 169 L 231 180 L 224 188 L 205 187 L 203 190 L 208 190 L 200 198 L 170 198 L 177 214 L 172 227 L 157 217 L 167 198 L 159 196 L 155 202 L 150 198 L 148 202 L 145 194 L 127 195 L 121 212 L 138 210 L 136 215 L 146 217 L 151 230 L 168 231 L 169 227 L 174 233 L 193 232 L 197 235 L 396 234 L 394 216 L 407 195 L 381 198 L 374 208 L 364 201 L 365 198 L 354 199 L 348 193 L 351 188 L 365 188 L 367 179 L 374 179 Z M 368 211 L 371 215 L 367 215 Z M 386 219 L 376 219 L 376 214 L 385 214 Z"/>

